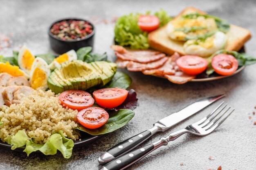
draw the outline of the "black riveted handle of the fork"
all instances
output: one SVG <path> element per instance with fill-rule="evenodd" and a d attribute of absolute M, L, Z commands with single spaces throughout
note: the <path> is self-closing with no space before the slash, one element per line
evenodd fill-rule
<path fill-rule="evenodd" d="M 154 150 L 154 145 L 139 148 L 106 164 L 101 170 L 123 170 Z"/>

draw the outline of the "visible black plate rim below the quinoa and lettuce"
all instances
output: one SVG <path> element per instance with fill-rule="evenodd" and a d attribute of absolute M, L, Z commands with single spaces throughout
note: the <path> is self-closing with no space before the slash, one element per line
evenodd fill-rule
<path fill-rule="evenodd" d="M 94 140 L 99 139 L 100 137 L 103 136 L 103 135 L 92 136 L 92 135 L 90 135 L 90 134 L 88 134 L 88 133 L 85 133 L 85 132 L 83 132 L 83 131 L 80 131 L 80 134 L 81 134 L 81 136 L 80 136 L 79 139 L 81 139 L 81 140 L 78 139 L 78 140 L 74 141 L 74 148 L 78 148 L 78 147 L 80 147 L 80 146 L 85 146 L 85 145 L 87 145 L 87 144 L 90 144 L 90 143 L 92 143 Z M 0 147 L 6 148 L 6 149 L 11 149 L 11 145 L 9 145 L 9 144 L 7 144 L 7 143 L 5 143 L 5 142 L 2 142 L 2 141 L 0 141 Z M 22 146 L 22 147 L 20 147 L 20 148 L 14 149 L 14 151 L 22 152 L 24 149 L 25 149 L 25 147 Z M 40 153 L 40 151 L 36 151 L 36 152 L 37 152 L 37 153 Z"/>

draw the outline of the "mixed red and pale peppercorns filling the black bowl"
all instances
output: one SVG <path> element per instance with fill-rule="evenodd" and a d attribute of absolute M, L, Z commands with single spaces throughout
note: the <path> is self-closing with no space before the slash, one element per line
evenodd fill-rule
<path fill-rule="evenodd" d="M 92 25 L 83 20 L 63 20 L 53 24 L 51 33 L 63 40 L 80 40 L 92 33 Z"/>

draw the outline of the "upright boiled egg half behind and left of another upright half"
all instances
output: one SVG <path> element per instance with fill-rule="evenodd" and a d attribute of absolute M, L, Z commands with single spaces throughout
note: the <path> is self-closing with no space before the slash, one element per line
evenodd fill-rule
<path fill-rule="evenodd" d="M 20 68 L 29 74 L 34 60 L 34 55 L 31 54 L 26 46 L 23 46 L 18 54 L 18 65 Z"/>

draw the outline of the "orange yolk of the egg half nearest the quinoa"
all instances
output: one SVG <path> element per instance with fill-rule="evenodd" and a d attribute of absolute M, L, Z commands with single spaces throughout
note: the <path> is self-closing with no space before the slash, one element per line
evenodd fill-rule
<path fill-rule="evenodd" d="M 42 87 L 46 84 L 46 80 L 45 71 L 40 68 L 36 68 L 31 78 L 31 87 L 33 89 L 38 89 L 38 87 Z"/>

